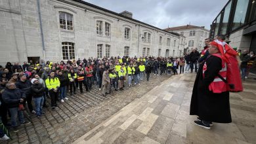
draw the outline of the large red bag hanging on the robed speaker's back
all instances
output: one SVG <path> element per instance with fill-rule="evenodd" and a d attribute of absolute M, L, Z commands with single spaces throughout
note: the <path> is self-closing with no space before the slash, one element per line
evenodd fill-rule
<path fill-rule="evenodd" d="M 237 52 L 224 41 L 216 41 L 218 45 L 221 45 L 223 49 L 219 48 L 222 59 L 226 62 L 226 79 L 218 76 L 221 80 L 227 83 L 227 90 L 229 92 L 242 92 L 243 85 L 240 77 L 240 69 L 238 60 L 236 59 Z"/>

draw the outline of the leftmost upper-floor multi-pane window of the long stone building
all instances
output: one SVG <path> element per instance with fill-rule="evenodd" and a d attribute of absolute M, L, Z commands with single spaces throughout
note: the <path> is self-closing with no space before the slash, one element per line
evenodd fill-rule
<path fill-rule="evenodd" d="M 60 12 L 60 29 L 73 30 L 73 16 L 71 14 Z"/>

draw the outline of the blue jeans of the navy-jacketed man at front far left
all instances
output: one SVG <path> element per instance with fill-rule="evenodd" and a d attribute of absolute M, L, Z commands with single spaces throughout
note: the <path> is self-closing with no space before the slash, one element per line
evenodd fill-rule
<path fill-rule="evenodd" d="M 23 111 L 18 111 L 18 107 L 9 108 L 9 111 L 11 113 L 11 124 L 12 126 L 18 126 L 16 119 L 18 115 L 18 120 L 20 120 L 20 123 L 23 124 L 25 122 Z"/>

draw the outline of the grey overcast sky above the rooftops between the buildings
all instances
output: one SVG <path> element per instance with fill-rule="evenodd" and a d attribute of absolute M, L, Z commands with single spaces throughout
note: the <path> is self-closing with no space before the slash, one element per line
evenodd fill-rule
<path fill-rule="evenodd" d="M 127 10 L 133 18 L 161 29 L 191 24 L 210 29 L 228 0 L 83 0 L 114 12 Z"/>

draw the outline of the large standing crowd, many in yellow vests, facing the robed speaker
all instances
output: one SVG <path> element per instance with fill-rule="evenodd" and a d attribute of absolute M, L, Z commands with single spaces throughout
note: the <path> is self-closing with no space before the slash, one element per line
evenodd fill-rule
<path fill-rule="evenodd" d="M 18 132 L 17 117 L 20 125 L 30 123 L 24 120 L 22 109 L 28 107 L 30 113 L 40 118 L 45 113 L 43 107 L 49 107 L 47 98 L 51 99 L 51 109 L 54 111 L 58 101 L 64 103 L 68 100 L 68 91 L 69 98 L 72 98 L 77 91 L 84 93 L 85 88 L 89 92 L 93 84 L 96 84 L 102 91 L 102 96 L 106 96 L 113 90 L 123 90 L 125 81 L 131 87 L 140 85 L 143 79 L 149 81 L 150 75 L 171 76 L 193 73 L 194 69 L 197 73 L 198 63 L 202 63 L 209 55 L 207 47 L 210 42 L 210 39 L 205 39 L 205 49 L 202 52 L 192 48 L 192 52 L 181 58 L 117 56 L 59 63 L 41 60 L 35 63 L 24 62 L 23 65 L 7 62 L 5 67 L 0 65 L 0 120 L 4 126 Z M 241 54 L 243 79 L 246 79 L 249 73 L 248 65 L 250 68 L 255 59 L 253 52 L 246 52 Z M 11 123 L 7 117 L 11 117 Z M 8 139 L 1 129 L 0 137 Z"/>

